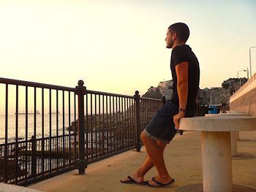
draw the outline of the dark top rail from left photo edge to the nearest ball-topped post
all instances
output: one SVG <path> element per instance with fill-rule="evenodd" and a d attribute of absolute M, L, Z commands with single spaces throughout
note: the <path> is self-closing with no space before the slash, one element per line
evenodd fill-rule
<path fill-rule="evenodd" d="M 69 88 L 59 85 L 50 85 L 40 82 L 30 82 L 30 81 L 23 81 L 23 80 L 12 80 L 7 78 L 0 77 L 0 83 L 11 84 L 11 85 L 22 85 L 22 86 L 29 86 L 34 88 L 49 88 L 49 89 L 56 89 L 61 91 L 75 91 L 75 88 Z"/>

